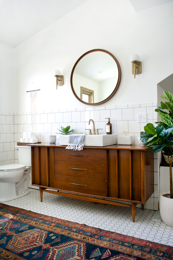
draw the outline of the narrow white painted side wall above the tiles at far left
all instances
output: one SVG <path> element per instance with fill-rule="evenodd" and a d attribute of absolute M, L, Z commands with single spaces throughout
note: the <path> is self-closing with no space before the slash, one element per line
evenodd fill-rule
<path fill-rule="evenodd" d="M 14 112 L 13 53 L 13 48 L 0 43 L 1 112 Z"/>

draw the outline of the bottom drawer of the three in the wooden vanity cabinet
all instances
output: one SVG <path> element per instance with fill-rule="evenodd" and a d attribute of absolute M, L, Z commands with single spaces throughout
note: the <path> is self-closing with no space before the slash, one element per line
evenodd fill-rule
<path fill-rule="evenodd" d="M 105 180 L 78 178 L 55 174 L 55 188 L 60 190 L 106 196 Z"/>

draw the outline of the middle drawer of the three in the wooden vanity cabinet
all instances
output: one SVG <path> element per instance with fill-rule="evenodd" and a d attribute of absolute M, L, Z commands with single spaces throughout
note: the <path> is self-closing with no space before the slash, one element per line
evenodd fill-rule
<path fill-rule="evenodd" d="M 59 175 L 106 180 L 106 164 L 55 160 L 54 172 Z"/>

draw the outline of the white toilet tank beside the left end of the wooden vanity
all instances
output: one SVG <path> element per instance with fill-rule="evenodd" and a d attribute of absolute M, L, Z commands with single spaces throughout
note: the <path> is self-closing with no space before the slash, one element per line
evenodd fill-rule
<path fill-rule="evenodd" d="M 18 164 L 25 164 L 26 166 L 31 167 L 31 146 L 18 146 Z"/>

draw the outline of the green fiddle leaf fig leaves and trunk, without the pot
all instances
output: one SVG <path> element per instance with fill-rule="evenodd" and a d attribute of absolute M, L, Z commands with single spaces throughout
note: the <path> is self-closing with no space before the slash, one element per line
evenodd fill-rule
<path fill-rule="evenodd" d="M 146 143 L 146 147 L 152 147 L 151 151 L 153 153 L 163 151 L 163 154 L 168 156 L 170 166 L 170 198 L 173 198 L 173 95 L 169 91 L 165 91 L 163 94 L 165 96 L 161 96 L 161 98 L 165 98 L 169 102 L 161 101 L 161 107 L 155 109 L 159 113 L 161 122 L 156 122 L 159 124 L 157 127 L 148 123 L 144 127 L 145 132 L 141 134 L 141 141 Z M 161 109 L 167 109 L 169 113 Z"/>

